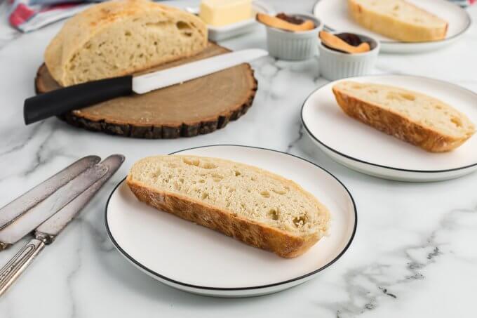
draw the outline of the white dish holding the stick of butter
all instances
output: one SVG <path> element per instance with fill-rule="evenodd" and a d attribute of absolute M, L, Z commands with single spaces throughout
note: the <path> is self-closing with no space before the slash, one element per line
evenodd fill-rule
<path fill-rule="evenodd" d="M 185 11 L 198 15 L 199 7 L 187 7 L 185 8 Z M 208 25 L 208 39 L 210 41 L 223 41 L 231 37 L 252 32 L 253 29 L 255 29 L 255 27 L 258 25 L 257 21 L 255 20 L 255 13 L 274 14 L 274 9 L 268 4 L 264 4 L 262 1 L 253 1 L 252 11 L 253 13 L 248 20 L 242 20 L 240 22 L 224 25 L 221 27 Z"/>

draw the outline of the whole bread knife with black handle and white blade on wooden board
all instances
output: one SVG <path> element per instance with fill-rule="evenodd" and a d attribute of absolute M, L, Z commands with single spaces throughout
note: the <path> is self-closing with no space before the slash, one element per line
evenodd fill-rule
<path fill-rule="evenodd" d="M 144 94 L 159 88 L 197 79 L 266 55 L 268 55 L 267 51 L 260 48 L 250 48 L 135 77 L 126 75 L 59 88 L 55 91 L 27 98 L 23 106 L 23 117 L 25 124 L 32 124 L 41 119 L 78 110 L 112 98 L 132 95 L 133 93 Z"/>

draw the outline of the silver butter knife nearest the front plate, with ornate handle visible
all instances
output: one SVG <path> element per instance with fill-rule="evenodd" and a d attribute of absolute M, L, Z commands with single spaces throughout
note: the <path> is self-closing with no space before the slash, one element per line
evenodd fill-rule
<path fill-rule="evenodd" d="M 34 238 L 0 269 L 0 296 L 20 277 L 20 274 L 32 263 L 34 258 L 43 250 L 43 247 L 53 243 L 58 234 L 86 206 L 102 185 L 111 178 L 121 164 L 123 164 L 123 161 L 124 157 L 121 154 L 114 154 L 103 160 L 99 165 L 104 166 L 107 172 L 91 185 L 88 190 L 36 227 L 33 235 Z"/>

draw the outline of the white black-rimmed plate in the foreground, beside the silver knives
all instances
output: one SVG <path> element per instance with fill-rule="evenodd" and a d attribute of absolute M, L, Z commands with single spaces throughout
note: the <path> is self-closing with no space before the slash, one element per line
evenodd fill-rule
<path fill-rule="evenodd" d="M 157 211 L 138 201 L 123 180 L 107 201 L 107 232 L 123 256 L 164 284 L 206 296 L 260 296 L 312 279 L 349 248 L 357 224 L 354 199 L 340 180 L 316 164 L 283 152 L 237 145 L 197 147 L 176 154 L 231 159 L 279 173 L 328 206 L 332 220 L 330 234 L 307 253 L 280 258 Z"/>

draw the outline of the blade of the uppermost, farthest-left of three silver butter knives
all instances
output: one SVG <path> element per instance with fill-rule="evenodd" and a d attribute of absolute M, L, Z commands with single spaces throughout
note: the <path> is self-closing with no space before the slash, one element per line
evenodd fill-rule
<path fill-rule="evenodd" d="M 76 178 L 80 173 L 98 164 L 100 160 L 101 158 L 98 156 L 81 158 L 39 185 L 36 185 L 36 187 L 25 192 L 25 194 L 22 194 L 9 204 L 6 204 L 3 208 L 0 208 L 0 230 L 13 223 L 13 221 L 20 218 L 20 216 L 30 208 L 39 204 L 39 202 L 46 199 L 46 197 L 67 184 L 73 178 Z"/>

